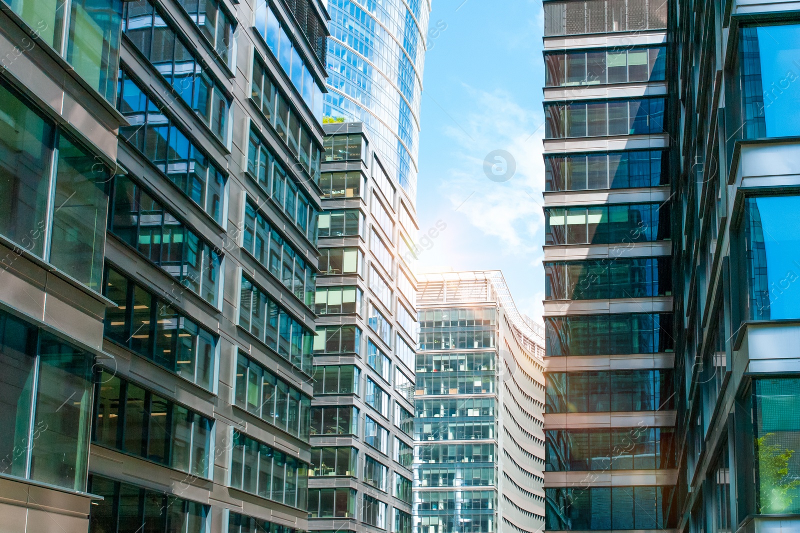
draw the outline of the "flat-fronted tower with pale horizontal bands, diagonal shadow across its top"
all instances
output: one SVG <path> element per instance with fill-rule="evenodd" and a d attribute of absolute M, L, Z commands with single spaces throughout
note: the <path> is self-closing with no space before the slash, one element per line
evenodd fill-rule
<path fill-rule="evenodd" d="M 544 2 L 547 531 L 678 526 L 668 11 Z"/>

